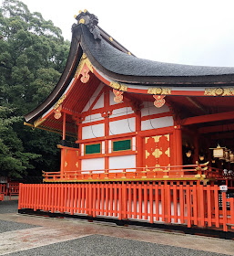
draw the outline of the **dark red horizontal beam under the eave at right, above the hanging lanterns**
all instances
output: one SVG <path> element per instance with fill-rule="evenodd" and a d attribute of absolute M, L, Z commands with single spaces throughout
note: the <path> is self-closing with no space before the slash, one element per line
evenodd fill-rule
<path fill-rule="evenodd" d="M 219 112 L 219 113 L 188 117 L 186 119 L 181 120 L 181 124 L 189 125 L 189 124 L 195 124 L 195 123 L 209 123 L 209 122 L 229 120 L 229 119 L 234 119 L 234 112 Z"/>

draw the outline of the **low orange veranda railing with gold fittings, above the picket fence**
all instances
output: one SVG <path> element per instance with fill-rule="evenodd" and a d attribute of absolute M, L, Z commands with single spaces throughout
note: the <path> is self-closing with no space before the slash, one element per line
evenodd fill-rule
<path fill-rule="evenodd" d="M 88 180 L 116 180 L 116 179 L 191 179 L 222 178 L 219 169 L 211 168 L 206 164 L 197 165 L 170 165 L 153 167 L 115 168 L 99 170 L 81 170 L 61 172 L 44 172 L 45 182 L 61 181 L 88 181 Z"/>

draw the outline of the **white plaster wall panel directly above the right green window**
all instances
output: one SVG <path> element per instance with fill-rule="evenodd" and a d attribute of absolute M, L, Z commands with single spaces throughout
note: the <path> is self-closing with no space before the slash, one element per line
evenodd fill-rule
<path fill-rule="evenodd" d="M 111 119 L 109 119 L 111 121 Z M 129 125 L 128 125 L 129 123 Z M 130 127 L 130 128 L 129 128 Z M 109 123 L 110 135 L 136 132 L 136 118 L 128 118 Z"/>

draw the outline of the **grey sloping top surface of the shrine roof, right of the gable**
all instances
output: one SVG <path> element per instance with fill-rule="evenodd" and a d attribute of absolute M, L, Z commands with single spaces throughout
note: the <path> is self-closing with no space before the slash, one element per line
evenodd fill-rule
<path fill-rule="evenodd" d="M 95 40 L 86 26 L 82 27 L 86 46 L 92 56 L 105 69 L 120 75 L 191 77 L 234 74 L 234 68 L 191 66 L 139 59 L 112 47 L 106 40 Z"/>

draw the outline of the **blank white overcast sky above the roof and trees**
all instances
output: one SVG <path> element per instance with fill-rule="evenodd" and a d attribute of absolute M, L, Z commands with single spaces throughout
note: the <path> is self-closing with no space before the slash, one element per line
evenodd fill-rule
<path fill-rule="evenodd" d="M 3 0 L 0 0 L 0 3 Z M 71 39 L 74 15 L 87 9 L 99 26 L 139 58 L 234 67 L 233 0 L 23 0 Z"/>

